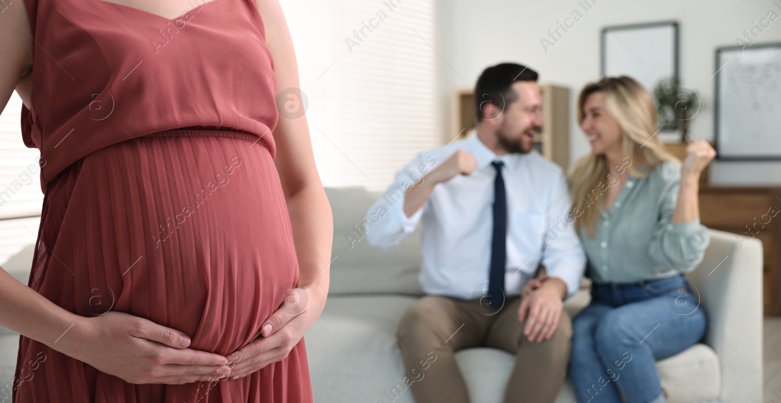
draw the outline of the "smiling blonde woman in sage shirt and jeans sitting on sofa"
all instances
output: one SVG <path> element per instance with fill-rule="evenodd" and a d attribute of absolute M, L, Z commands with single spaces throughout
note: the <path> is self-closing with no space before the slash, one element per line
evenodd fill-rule
<path fill-rule="evenodd" d="M 581 402 L 663 402 L 654 362 L 707 327 L 683 274 L 710 240 L 697 191 L 715 151 L 695 140 L 683 164 L 669 154 L 651 94 L 626 76 L 583 88 L 578 118 L 591 154 L 572 168 L 573 215 L 593 286 L 572 323 L 572 384 Z"/>

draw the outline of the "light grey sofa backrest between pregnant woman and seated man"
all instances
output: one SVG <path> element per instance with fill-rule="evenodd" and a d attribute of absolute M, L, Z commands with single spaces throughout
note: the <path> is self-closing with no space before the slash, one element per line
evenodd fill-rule
<path fill-rule="evenodd" d="M 413 232 L 398 246 L 376 249 L 366 241 L 364 217 L 381 193 L 362 187 L 326 188 L 333 212 L 330 295 L 389 292 L 421 295 L 418 282 L 420 233 Z"/>

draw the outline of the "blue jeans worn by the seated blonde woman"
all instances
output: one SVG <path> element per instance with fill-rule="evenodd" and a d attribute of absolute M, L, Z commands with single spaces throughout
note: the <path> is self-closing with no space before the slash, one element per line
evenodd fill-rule
<path fill-rule="evenodd" d="M 708 326 L 686 278 L 592 285 L 572 320 L 569 376 L 580 403 L 663 403 L 655 362 L 700 341 Z"/>

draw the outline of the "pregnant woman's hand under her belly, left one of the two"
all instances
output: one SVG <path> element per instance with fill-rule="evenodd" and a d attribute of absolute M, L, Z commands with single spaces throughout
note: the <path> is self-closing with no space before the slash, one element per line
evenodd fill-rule
<path fill-rule="evenodd" d="M 127 313 L 80 316 L 72 338 L 58 351 L 130 384 L 188 384 L 230 375 L 218 354 L 186 348 L 190 338 L 177 330 Z"/>

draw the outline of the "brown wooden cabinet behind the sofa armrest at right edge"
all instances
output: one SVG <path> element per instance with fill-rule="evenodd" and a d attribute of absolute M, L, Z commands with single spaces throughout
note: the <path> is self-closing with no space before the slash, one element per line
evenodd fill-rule
<path fill-rule="evenodd" d="M 700 221 L 708 228 L 759 239 L 764 251 L 765 313 L 781 315 L 781 189 L 700 188 Z"/>

